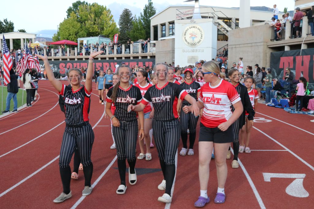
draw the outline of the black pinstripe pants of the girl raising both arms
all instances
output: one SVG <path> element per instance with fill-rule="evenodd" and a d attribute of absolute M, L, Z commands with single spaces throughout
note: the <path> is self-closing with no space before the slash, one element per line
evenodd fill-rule
<path fill-rule="evenodd" d="M 72 155 L 77 147 L 82 165 L 89 166 L 92 162 L 90 155 L 94 138 L 94 131 L 90 124 L 79 128 L 65 127 L 59 158 L 60 168 L 69 167 Z"/>

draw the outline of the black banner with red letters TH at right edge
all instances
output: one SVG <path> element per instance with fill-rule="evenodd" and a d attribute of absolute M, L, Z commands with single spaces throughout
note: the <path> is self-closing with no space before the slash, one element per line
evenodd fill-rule
<path fill-rule="evenodd" d="M 273 69 L 273 76 L 284 79 L 286 68 L 289 67 L 295 75 L 295 79 L 305 77 L 314 86 L 314 49 L 304 49 L 300 55 L 300 50 L 271 52 L 270 68 Z M 310 88 L 310 87 L 309 87 Z"/>

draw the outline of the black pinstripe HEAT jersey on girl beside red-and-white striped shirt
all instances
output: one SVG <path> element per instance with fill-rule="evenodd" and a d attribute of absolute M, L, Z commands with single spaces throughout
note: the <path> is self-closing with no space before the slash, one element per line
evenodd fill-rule
<path fill-rule="evenodd" d="M 179 117 L 176 109 L 178 98 L 184 100 L 186 95 L 187 92 L 180 85 L 167 82 L 162 88 L 157 85 L 151 86 L 146 91 L 142 103 L 145 105 L 153 103 L 155 120 L 173 120 Z"/>

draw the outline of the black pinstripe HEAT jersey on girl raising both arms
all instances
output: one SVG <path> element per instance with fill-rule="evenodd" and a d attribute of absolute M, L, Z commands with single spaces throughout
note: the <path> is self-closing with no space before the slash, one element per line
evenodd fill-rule
<path fill-rule="evenodd" d="M 90 94 L 85 86 L 73 91 L 71 86 L 62 85 L 60 95 L 64 99 L 65 123 L 78 124 L 89 121 Z"/>

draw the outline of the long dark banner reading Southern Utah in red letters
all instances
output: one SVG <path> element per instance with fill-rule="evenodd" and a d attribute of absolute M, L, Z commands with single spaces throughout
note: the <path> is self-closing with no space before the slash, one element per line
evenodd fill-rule
<path fill-rule="evenodd" d="M 135 67 L 135 65 L 138 65 L 138 67 L 143 67 L 145 65 L 146 67 L 154 66 L 155 65 L 155 59 L 133 59 L 133 60 L 94 60 L 94 69 L 97 67 L 100 70 L 103 70 L 106 72 L 107 68 L 110 67 L 112 70 L 116 68 L 116 65 L 122 65 L 122 62 L 125 62 L 125 65 L 129 65 L 131 68 Z M 40 61 L 39 64 L 43 66 L 43 61 Z M 66 69 L 69 68 L 81 68 L 84 67 L 87 69 L 88 60 L 56 60 L 56 61 L 49 61 L 49 64 L 51 66 L 51 69 L 53 72 L 60 74 L 61 76 L 64 76 Z M 45 66 L 43 66 L 45 68 Z"/>

